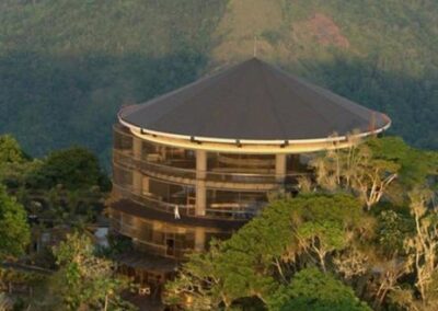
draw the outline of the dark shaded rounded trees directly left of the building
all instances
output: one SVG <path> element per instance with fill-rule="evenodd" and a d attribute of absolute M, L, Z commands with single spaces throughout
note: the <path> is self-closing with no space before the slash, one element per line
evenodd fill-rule
<path fill-rule="evenodd" d="M 1 139 L 9 146 L 3 148 L 3 156 L 12 154 L 8 159 L 15 160 L 0 162 L 0 184 L 30 214 L 49 220 L 53 226 L 80 227 L 95 221 L 111 182 L 93 153 L 73 147 L 51 152 L 44 159 L 20 158 L 16 154 L 22 151 L 16 141 L 9 136 Z"/>

